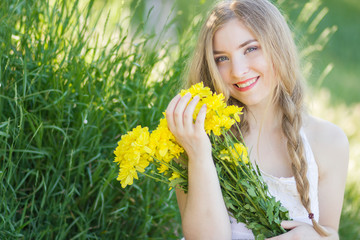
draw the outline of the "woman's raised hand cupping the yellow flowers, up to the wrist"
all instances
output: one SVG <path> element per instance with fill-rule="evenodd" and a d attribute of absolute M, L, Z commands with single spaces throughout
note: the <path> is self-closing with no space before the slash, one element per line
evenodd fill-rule
<path fill-rule="evenodd" d="M 204 129 L 206 105 L 203 105 L 194 123 L 193 113 L 199 97 L 195 96 L 187 105 L 191 94 L 175 96 L 166 109 L 166 118 L 170 131 L 177 142 L 185 149 L 190 158 L 198 158 L 204 153 L 211 154 L 211 143 Z"/>

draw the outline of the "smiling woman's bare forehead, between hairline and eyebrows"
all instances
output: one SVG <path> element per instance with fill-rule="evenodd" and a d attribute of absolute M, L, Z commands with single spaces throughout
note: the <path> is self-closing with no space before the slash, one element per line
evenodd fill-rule
<path fill-rule="evenodd" d="M 214 50 L 231 50 L 242 43 L 255 39 L 253 33 L 238 19 L 231 19 L 222 25 L 214 34 Z"/>

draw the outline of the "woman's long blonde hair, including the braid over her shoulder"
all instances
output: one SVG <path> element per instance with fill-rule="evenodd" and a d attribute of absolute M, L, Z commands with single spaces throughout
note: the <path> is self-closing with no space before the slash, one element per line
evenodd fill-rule
<path fill-rule="evenodd" d="M 205 21 L 198 38 L 192 61 L 188 66 L 187 84 L 203 82 L 213 91 L 223 93 L 228 104 L 244 106 L 230 96 L 213 56 L 215 32 L 232 19 L 240 20 L 255 36 L 278 81 L 273 93 L 273 103 L 282 112 L 282 131 L 287 139 L 287 151 L 296 180 L 301 203 L 309 213 L 314 229 L 322 236 L 328 235 L 312 217 L 309 197 L 307 163 L 300 136 L 303 115 L 303 84 L 299 57 L 291 30 L 278 8 L 267 0 L 237 0 L 219 3 Z M 246 106 L 244 106 L 246 109 Z M 246 114 L 244 114 L 246 116 Z M 248 131 L 246 118 L 241 129 Z"/>

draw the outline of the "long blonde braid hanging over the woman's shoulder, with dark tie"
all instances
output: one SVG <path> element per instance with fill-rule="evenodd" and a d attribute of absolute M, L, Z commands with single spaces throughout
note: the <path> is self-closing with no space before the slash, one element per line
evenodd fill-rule
<path fill-rule="evenodd" d="M 286 91 L 279 91 L 280 108 L 283 112 L 282 130 L 287 138 L 287 150 L 291 159 L 291 169 L 295 177 L 296 188 L 299 192 L 302 205 L 309 213 L 309 218 L 313 223 L 314 229 L 321 236 L 328 236 L 328 232 L 318 224 L 313 218 L 311 211 L 311 200 L 309 196 L 309 180 L 306 176 L 307 162 L 305 159 L 305 151 L 303 141 L 300 136 L 300 128 L 302 126 L 302 100 L 297 94 L 300 89 L 295 87 L 292 96 Z"/>

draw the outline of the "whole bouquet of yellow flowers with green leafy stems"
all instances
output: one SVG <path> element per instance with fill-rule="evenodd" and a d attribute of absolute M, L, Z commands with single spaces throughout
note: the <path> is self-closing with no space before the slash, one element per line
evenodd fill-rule
<path fill-rule="evenodd" d="M 243 139 L 237 139 L 230 130 L 232 126 L 238 126 L 236 123 L 240 122 L 242 108 L 228 106 L 222 94 L 212 93 L 203 83 L 182 90 L 180 94 L 184 96 L 188 92 L 193 97 L 200 97 L 194 119 L 201 106 L 207 105 L 205 131 L 211 141 L 212 156 L 229 214 L 238 222 L 245 223 L 256 239 L 286 232 L 280 223 L 289 220 L 287 209 L 270 195 L 259 168 L 249 162 Z M 123 135 L 114 153 L 114 162 L 120 167 L 117 180 L 123 188 L 133 184 L 133 179 L 138 179 L 138 173 L 142 173 L 168 184 L 170 189 L 179 188 L 187 192 L 187 155 L 168 129 L 166 118 L 161 119 L 151 133 L 147 127 L 137 126 Z"/>

